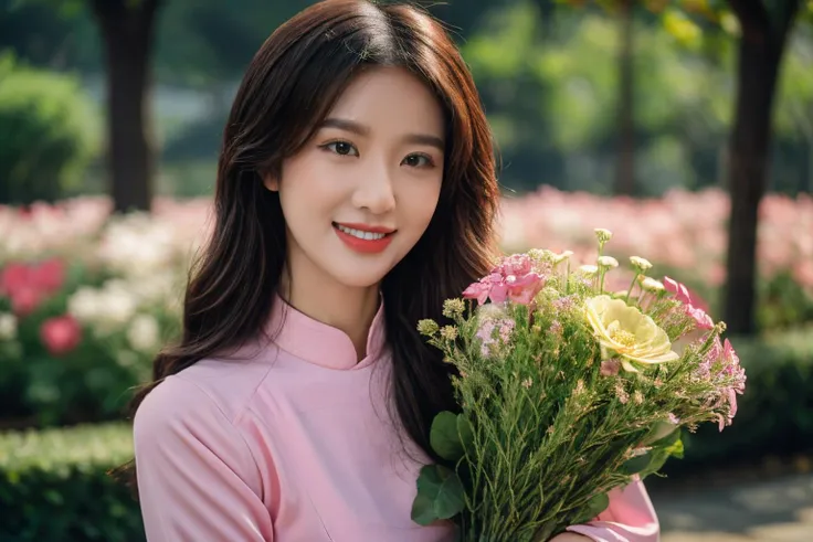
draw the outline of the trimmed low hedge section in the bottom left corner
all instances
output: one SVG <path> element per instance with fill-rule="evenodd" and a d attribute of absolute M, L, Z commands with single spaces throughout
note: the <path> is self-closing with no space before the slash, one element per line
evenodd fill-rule
<path fill-rule="evenodd" d="M 124 425 L 0 434 L 0 540 L 144 541 L 138 503 L 106 474 L 131 457 Z"/>

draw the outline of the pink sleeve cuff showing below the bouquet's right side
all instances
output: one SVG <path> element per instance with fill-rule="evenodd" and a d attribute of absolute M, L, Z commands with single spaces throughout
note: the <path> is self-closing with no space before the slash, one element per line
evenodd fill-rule
<path fill-rule="evenodd" d="M 594 542 L 658 542 L 661 525 L 644 483 L 636 479 L 610 492 L 610 506 L 599 517 L 568 531 Z"/>

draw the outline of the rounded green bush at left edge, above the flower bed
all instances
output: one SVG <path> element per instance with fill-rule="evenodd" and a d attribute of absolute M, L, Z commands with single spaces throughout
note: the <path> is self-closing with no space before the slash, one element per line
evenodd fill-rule
<path fill-rule="evenodd" d="M 98 149 L 98 117 L 78 83 L 0 56 L 0 203 L 53 201 Z"/>

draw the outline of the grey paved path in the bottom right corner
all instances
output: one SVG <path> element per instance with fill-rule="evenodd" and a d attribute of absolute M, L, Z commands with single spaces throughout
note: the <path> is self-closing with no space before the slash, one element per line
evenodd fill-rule
<path fill-rule="evenodd" d="M 813 474 L 652 500 L 662 542 L 813 542 Z"/>

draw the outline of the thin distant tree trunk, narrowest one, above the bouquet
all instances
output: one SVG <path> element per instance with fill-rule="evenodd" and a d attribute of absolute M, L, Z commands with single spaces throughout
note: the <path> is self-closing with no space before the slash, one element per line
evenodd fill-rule
<path fill-rule="evenodd" d="M 634 114 L 634 1 L 619 2 L 619 155 L 615 168 L 615 194 L 632 195 L 635 191 L 635 114 Z"/>

